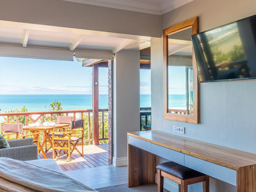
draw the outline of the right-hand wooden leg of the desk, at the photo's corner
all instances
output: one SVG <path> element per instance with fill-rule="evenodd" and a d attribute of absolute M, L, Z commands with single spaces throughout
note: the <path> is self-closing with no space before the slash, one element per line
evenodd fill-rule
<path fill-rule="evenodd" d="M 236 191 L 256 191 L 256 165 L 240 167 L 236 171 Z"/>

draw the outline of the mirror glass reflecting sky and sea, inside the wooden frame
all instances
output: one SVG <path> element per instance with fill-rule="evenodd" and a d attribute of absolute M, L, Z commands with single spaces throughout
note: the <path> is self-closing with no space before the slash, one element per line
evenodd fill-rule
<path fill-rule="evenodd" d="M 168 113 L 193 114 L 192 28 L 168 36 Z"/>

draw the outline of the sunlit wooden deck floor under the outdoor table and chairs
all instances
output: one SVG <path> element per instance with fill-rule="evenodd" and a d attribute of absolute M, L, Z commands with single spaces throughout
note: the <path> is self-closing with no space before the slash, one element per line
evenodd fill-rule
<path fill-rule="evenodd" d="M 81 148 L 81 146 L 79 146 Z M 78 148 L 79 148 L 78 147 Z M 47 158 L 52 158 L 52 150 L 46 153 Z M 74 151 L 71 161 L 66 162 L 67 155 L 62 153 L 56 161 L 62 170 L 76 170 L 89 167 L 99 167 L 108 165 L 108 144 L 84 145 L 84 157 Z M 40 159 L 43 156 L 40 154 Z"/>

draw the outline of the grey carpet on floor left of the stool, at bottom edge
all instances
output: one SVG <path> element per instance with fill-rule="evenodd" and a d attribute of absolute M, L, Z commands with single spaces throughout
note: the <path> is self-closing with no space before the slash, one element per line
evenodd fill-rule
<path fill-rule="evenodd" d="M 116 185 L 116 186 L 107 186 L 103 188 L 96 189 L 99 192 L 157 192 L 158 185 L 156 183 L 149 184 L 149 185 L 141 185 L 141 186 L 134 186 L 132 188 L 128 188 L 127 184 Z M 169 192 L 164 190 L 164 192 Z"/>

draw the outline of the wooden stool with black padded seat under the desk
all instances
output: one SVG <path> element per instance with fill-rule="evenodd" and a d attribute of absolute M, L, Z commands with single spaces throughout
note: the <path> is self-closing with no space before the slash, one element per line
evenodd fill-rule
<path fill-rule="evenodd" d="M 188 185 L 203 182 L 203 191 L 209 192 L 209 176 L 196 170 L 177 164 L 176 162 L 164 162 L 156 166 L 158 170 L 158 192 L 164 188 L 164 177 L 178 183 L 180 192 L 187 192 Z"/>

